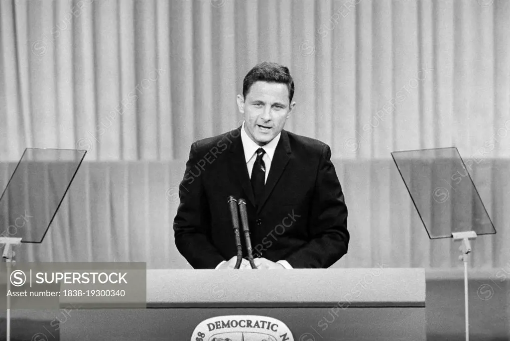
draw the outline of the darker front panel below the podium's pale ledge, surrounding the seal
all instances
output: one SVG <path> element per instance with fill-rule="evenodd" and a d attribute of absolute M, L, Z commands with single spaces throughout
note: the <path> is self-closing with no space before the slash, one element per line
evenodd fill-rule
<path fill-rule="evenodd" d="M 426 339 L 425 308 L 416 307 L 346 308 L 335 312 L 332 307 L 76 310 L 61 325 L 60 337 L 62 340 L 187 341 L 200 322 L 229 315 L 278 319 L 289 327 L 295 341 Z"/>

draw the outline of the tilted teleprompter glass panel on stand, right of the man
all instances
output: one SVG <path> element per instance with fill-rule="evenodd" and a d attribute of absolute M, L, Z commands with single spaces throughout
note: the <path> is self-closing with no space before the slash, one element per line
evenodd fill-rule
<path fill-rule="evenodd" d="M 430 239 L 453 232 L 494 234 L 496 229 L 457 148 L 391 153 Z"/>

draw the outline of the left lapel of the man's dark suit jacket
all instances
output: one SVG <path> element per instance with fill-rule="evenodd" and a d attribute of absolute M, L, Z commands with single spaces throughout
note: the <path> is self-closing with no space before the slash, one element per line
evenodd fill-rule
<path fill-rule="evenodd" d="M 228 158 L 228 162 L 230 164 L 229 173 L 231 174 L 231 178 L 237 179 L 244 190 L 244 193 L 248 196 L 243 199 L 248 199 L 251 204 L 255 206 L 255 196 L 251 189 L 250 177 L 248 175 L 248 168 L 246 167 L 246 159 L 244 157 L 243 143 L 241 140 L 241 127 L 236 130 L 232 130 L 232 132 L 228 133 L 231 136 L 232 141 L 230 147 L 231 156 Z"/>

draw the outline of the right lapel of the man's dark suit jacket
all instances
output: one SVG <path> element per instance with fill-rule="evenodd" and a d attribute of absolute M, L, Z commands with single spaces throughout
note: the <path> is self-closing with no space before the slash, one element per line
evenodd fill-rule
<path fill-rule="evenodd" d="M 267 177 L 266 186 L 264 187 L 264 198 L 262 199 L 260 205 L 257 208 L 257 214 L 261 212 L 262 207 L 264 207 L 265 202 L 271 195 L 271 192 L 276 186 L 276 182 L 282 176 L 282 173 L 287 167 L 289 163 L 291 153 L 289 136 L 285 130 L 282 130 L 282 135 L 280 136 L 280 140 L 276 145 L 276 149 L 274 151 L 273 160 L 271 161 L 271 168 L 269 169 L 269 175 Z M 250 182 L 248 181 L 248 185 Z M 251 186 L 250 186 L 251 189 Z"/>

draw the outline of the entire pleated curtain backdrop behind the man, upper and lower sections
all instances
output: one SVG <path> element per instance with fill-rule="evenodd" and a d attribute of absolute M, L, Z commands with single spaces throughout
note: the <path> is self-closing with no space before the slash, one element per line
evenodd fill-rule
<path fill-rule="evenodd" d="M 243 77 L 269 60 L 295 80 L 286 128 L 330 145 L 348 194 L 339 266 L 460 265 L 451 240 L 427 240 L 390 155 L 449 146 L 484 161 L 472 176 L 498 234 L 475 266 L 503 266 L 508 33 L 506 0 L 0 0 L 1 187 L 25 147 L 88 150 L 25 254 L 186 267 L 171 189 L 192 142 L 241 124 Z"/>

